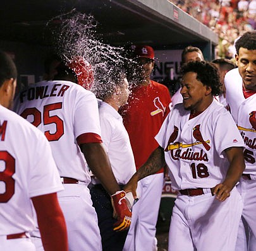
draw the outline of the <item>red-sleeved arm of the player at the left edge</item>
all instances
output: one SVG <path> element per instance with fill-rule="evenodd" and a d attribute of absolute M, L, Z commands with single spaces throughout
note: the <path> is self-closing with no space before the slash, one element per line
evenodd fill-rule
<path fill-rule="evenodd" d="M 32 197 L 46 251 L 68 251 L 66 223 L 56 193 Z"/>

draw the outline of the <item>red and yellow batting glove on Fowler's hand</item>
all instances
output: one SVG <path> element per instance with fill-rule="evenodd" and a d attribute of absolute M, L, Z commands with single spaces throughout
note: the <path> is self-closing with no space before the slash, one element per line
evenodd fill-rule
<path fill-rule="evenodd" d="M 128 230 L 131 225 L 131 211 L 126 204 L 125 196 L 125 191 L 118 191 L 111 196 L 113 216 L 118 220 L 114 223 L 114 231 Z"/>

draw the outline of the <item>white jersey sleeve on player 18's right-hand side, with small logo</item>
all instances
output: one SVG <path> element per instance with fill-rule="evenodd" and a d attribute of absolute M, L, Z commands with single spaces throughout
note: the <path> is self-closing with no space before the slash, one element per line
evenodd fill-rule
<path fill-rule="evenodd" d="M 223 158 L 223 151 L 231 147 L 245 147 L 236 124 L 228 111 L 219 112 L 214 123 L 214 142 L 217 153 Z"/>

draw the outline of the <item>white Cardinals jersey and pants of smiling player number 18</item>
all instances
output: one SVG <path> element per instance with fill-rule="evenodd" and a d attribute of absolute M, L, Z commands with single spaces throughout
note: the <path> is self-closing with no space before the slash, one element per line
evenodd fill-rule
<path fill-rule="evenodd" d="M 229 112 L 217 100 L 196 117 L 176 104 L 155 137 L 174 189 L 201 188 L 204 194 L 178 194 L 169 230 L 169 250 L 235 250 L 242 201 L 236 187 L 224 202 L 211 188 L 226 177 L 225 149 L 243 147 L 243 139 Z M 171 138 L 171 140 L 170 140 Z M 223 226 L 225 226 L 223 228 Z"/>

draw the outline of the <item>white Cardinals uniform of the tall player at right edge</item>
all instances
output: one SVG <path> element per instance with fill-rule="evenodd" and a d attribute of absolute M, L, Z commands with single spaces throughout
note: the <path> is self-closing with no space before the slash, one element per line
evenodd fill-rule
<path fill-rule="evenodd" d="M 243 80 L 238 72 L 238 68 L 229 71 L 224 79 L 226 86 L 226 101 L 231 115 L 245 142 L 245 170 L 240 184 L 237 188 L 243 198 L 242 219 L 249 226 L 250 248 L 256 250 L 256 94 L 255 91 L 243 90 Z M 242 230 L 243 231 L 243 230 Z M 237 250 L 240 250 L 239 233 Z"/>

